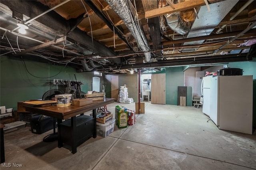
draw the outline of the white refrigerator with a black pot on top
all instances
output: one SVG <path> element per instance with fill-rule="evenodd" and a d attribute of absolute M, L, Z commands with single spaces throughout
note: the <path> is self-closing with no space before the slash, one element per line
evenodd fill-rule
<path fill-rule="evenodd" d="M 220 129 L 252 134 L 252 85 L 252 75 L 204 77 L 203 113 Z"/>

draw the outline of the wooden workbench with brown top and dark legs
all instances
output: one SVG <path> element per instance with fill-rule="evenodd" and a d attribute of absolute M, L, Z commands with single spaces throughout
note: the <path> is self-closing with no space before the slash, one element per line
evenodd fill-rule
<path fill-rule="evenodd" d="M 72 146 L 72 153 L 76 153 L 76 148 L 81 144 L 81 140 L 76 141 L 77 136 L 81 136 L 80 128 L 77 127 L 77 121 L 76 121 L 76 116 L 77 115 L 83 115 L 85 112 L 88 111 L 93 111 L 93 132 L 92 136 L 93 138 L 96 138 L 96 109 L 98 107 L 102 107 L 104 105 L 108 105 L 110 103 L 114 103 L 115 99 L 112 98 L 106 98 L 104 100 L 98 100 L 98 101 L 93 101 L 92 104 L 85 105 L 85 106 L 67 106 L 67 107 L 57 107 L 56 105 L 47 105 L 44 103 L 44 106 L 41 105 L 33 105 L 31 103 L 24 103 L 24 107 L 26 108 L 26 111 L 32 112 L 32 113 L 38 113 L 40 115 L 46 115 L 50 117 L 54 117 L 58 119 L 58 147 L 61 148 L 63 146 L 63 138 L 61 134 L 61 129 L 60 127 L 64 125 L 64 122 L 62 123 L 62 120 L 66 120 L 71 118 L 71 125 L 70 125 L 70 135 L 69 138 L 71 140 L 71 146 Z M 85 129 L 86 130 L 86 129 Z M 90 134 L 90 133 L 89 133 Z M 83 142 L 87 139 L 82 139 Z"/>

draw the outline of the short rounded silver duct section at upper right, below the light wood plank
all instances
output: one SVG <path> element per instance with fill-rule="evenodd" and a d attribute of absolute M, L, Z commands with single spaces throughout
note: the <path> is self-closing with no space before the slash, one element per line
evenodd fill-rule
<path fill-rule="evenodd" d="M 187 19 L 180 16 L 180 12 L 174 12 L 164 15 L 168 26 L 178 34 L 188 34 L 191 24 Z"/>

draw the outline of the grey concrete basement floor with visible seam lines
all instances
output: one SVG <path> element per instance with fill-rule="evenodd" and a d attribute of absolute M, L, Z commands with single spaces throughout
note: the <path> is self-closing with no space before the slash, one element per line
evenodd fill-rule
<path fill-rule="evenodd" d="M 112 103 L 135 109 L 135 103 Z M 86 113 L 90 114 L 90 113 Z M 136 124 L 115 127 L 106 138 L 90 138 L 77 153 L 42 142 L 47 134 L 33 134 L 29 127 L 4 134 L 7 165 L 1 170 L 246 170 L 256 169 L 256 133 L 219 130 L 195 107 L 156 105 L 145 102 L 145 114 Z M 115 125 L 116 126 L 116 125 Z"/>

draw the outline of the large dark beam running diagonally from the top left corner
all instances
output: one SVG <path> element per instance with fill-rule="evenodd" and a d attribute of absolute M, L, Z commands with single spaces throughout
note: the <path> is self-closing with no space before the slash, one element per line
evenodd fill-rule
<path fill-rule="evenodd" d="M 9 6 L 9 8 L 12 8 L 13 10 L 16 10 L 21 14 L 31 17 L 38 16 L 49 9 L 46 6 L 42 6 L 42 4 L 38 4 L 39 2 L 34 1 L 1 0 L 1 3 L 5 4 L 6 6 Z M 40 24 L 34 23 L 36 27 L 42 30 L 48 30 L 49 32 L 54 33 L 58 36 L 66 36 L 66 34 L 70 30 L 69 22 L 62 18 L 60 15 L 56 14 L 56 12 L 54 11 L 48 12 L 47 14 L 44 15 L 44 17 L 37 18 L 36 21 L 40 22 Z M 100 53 L 104 56 L 116 55 L 116 53 L 112 51 L 112 49 L 109 49 L 108 47 L 102 45 L 98 41 L 93 40 L 90 36 L 88 36 L 85 32 L 82 32 L 78 28 L 70 32 L 70 34 L 68 34 L 67 36 L 67 39 L 69 39 L 69 41 L 73 43 L 79 42 L 80 45 L 84 45 L 88 47 L 90 50 Z M 113 60 L 116 63 L 121 63 L 120 58 L 116 58 Z"/>

